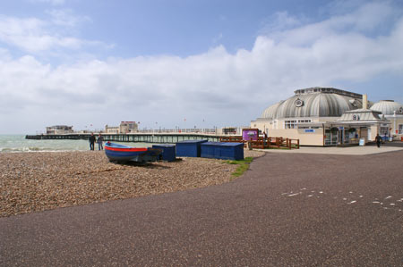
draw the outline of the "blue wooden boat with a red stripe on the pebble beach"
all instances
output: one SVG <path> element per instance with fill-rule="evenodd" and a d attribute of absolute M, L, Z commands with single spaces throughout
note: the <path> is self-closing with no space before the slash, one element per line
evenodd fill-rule
<path fill-rule="evenodd" d="M 150 147 L 132 147 L 116 143 L 105 143 L 105 154 L 110 162 L 148 163 L 159 160 L 161 149 Z"/>

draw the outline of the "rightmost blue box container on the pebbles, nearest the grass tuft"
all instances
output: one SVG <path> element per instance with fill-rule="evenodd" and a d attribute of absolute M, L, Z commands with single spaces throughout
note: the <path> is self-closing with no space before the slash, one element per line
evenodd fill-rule
<path fill-rule="evenodd" d="M 201 144 L 201 157 L 221 160 L 243 160 L 244 143 L 207 142 Z"/>

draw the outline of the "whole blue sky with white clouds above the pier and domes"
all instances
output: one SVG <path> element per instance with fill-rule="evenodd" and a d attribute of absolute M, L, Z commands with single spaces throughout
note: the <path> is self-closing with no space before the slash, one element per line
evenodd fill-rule
<path fill-rule="evenodd" d="M 403 1 L 0 2 L 0 134 L 248 126 L 301 88 L 403 103 Z"/>

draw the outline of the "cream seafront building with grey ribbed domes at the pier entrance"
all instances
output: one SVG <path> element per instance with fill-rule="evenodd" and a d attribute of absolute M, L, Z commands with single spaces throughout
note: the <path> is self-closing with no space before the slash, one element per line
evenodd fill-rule
<path fill-rule="evenodd" d="M 337 88 L 304 88 L 270 105 L 251 128 L 270 137 L 299 139 L 303 146 L 339 146 L 373 141 L 376 134 L 403 137 L 403 105 L 371 103 L 366 95 Z"/>

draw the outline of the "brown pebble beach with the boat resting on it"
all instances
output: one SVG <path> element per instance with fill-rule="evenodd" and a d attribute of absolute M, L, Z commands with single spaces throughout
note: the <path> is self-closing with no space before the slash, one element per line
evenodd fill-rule
<path fill-rule="evenodd" d="M 219 185 L 237 168 L 204 158 L 116 164 L 102 151 L 0 153 L 0 163 L 0 217 Z"/>

